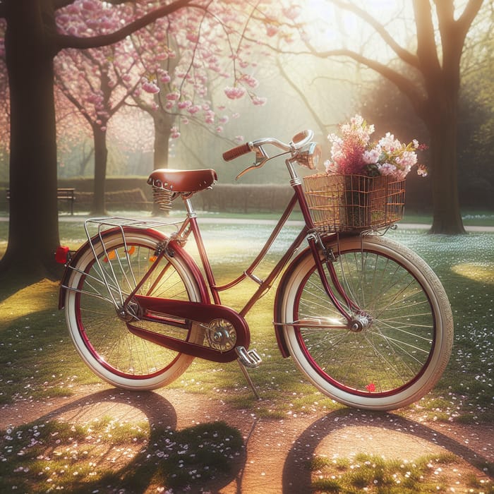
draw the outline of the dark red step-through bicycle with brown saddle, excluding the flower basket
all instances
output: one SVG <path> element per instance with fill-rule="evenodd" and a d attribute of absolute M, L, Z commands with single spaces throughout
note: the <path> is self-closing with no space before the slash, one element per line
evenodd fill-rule
<path fill-rule="evenodd" d="M 382 229 L 332 231 L 315 224 L 294 166 L 315 169 L 320 151 L 312 138 L 312 131 L 303 131 L 289 143 L 263 138 L 224 153 L 230 160 L 255 152 L 253 164 L 237 178 L 285 156 L 294 191 L 255 260 L 227 284 L 215 281 L 191 202 L 214 185 L 212 169 L 150 174 L 147 183 L 163 209 L 183 200 L 183 221 L 88 219 L 88 241 L 76 252 L 59 248 L 57 258 L 66 264 L 59 306 L 80 357 L 94 373 L 116 387 L 152 390 L 178 378 L 196 357 L 236 360 L 252 386 L 247 369 L 261 359 L 249 349 L 246 314 L 279 279 L 274 302 L 279 351 L 323 394 L 348 406 L 390 410 L 431 390 L 452 349 L 445 291 L 416 253 L 386 239 Z M 268 155 L 268 145 L 279 153 Z M 260 279 L 255 269 L 296 205 L 303 227 Z M 165 225 L 174 231 L 158 230 Z M 190 236 L 202 270 L 184 248 Z M 222 291 L 244 279 L 258 284 L 251 299 L 240 311 L 223 306 Z"/>

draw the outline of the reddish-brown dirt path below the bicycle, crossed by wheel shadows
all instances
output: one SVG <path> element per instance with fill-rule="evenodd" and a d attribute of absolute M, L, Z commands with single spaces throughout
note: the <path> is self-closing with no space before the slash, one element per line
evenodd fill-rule
<path fill-rule="evenodd" d="M 494 462 L 494 426 L 430 423 L 353 409 L 272 420 L 258 418 L 248 409 L 232 409 L 203 394 L 166 389 L 135 394 L 95 385 L 80 388 L 66 399 L 4 406 L 0 428 L 37 419 L 86 423 L 102 416 L 162 423 L 176 429 L 219 420 L 241 430 L 245 455 L 234 475 L 221 486 L 207 486 L 210 492 L 310 492 L 307 459 L 314 454 L 351 459 L 361 452 L 404 462 L 413 462 L 424 454 L 452 452 L 462 460 L 450 471 L 442 471 L 450 478 L 452 492 L 468 492 L 466 479 L 470 474 L 492 485 L 492 479 L 476 465 Z"/>

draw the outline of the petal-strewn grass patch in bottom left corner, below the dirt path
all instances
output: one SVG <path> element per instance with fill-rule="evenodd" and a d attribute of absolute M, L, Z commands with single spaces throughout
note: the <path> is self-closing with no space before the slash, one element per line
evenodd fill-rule
<path fill-rule="evenodd" d="M 112 418 L 30 423 L 0 437 L 0 491 L 188 490 L 230 475 L 241 454 L 239 431 L 223 422 L 183 430 Z"/>

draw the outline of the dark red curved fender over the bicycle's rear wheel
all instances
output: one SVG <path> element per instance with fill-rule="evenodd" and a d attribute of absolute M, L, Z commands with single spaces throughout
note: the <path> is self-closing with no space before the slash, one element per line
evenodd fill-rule
<path fill-rule="evenodd" d="M 90 241 L 88 240 L 85 243 L 83 243 L 83 245 L 80 246 L 80 248 L 78 248 L 76 253 L 73 254 L 71 259 L 68 261 L 68 263 L 65 267 L 64 275 L 61 278 L 60 291 L 59 291 L 59 309 L 65 308 L 65 299 L 66 299 L 66 293 L 68 290 L 68 288 L 67 288 L 68 287 L 68 281 L 71 277 L 72 270 L 74 269 L 74 267 L 76 267 L 76 265 L 78 265 L 80 258 L 85 254 L 85 252 L 88 250 L 88 248 L 91 248 L 90 247 L 91 244 L 95 245 L 101 239 L 104 240 L 108 236 L 111 236 L 112 234 L 114 234 L 116 231 L 121 232 L 121 229 L 119 227 L 115 227 L 115 228 L 110 228 L 110 229 L 105 230 L 104 232 L 102 232 L 102 234 L 96 234 L 95 236 L 93 236 L 90 239 Z M 125 231 L 128 233 L 135 233 L 135 232 L 142 232 L 143 229 L 135 228 L 135 227 L 126 227 Z M 157 242 L 164 242 L 164 241 L 167 241 L 169 239 L 169 237 L 167 235 L 163 234 L 161 231 L 148 229 L 148 230 L 146 230 L 146 233 L 148 235 L 154 237 Z M 188 268 L 193 273 L 193 276 L 195 277 L 195 279 L 198 283 L 201 300 L 204 303 L 210 303 L 210 294 L 209 294 L 209 291 L 207 290 L 207 285 L 205 283 L 203 274 L 200 271 L 198 265 L 195 263 L 195 261 L 191 257 L 191 255 L 189 255 L 183 249 L 183 247 L 176 241 L 170 241 L 169 247 L 171 247 L 173 249 L 174 257 L 181 258 L 181 260 L 183 260 L 183 263 L 188 265 Z"/>

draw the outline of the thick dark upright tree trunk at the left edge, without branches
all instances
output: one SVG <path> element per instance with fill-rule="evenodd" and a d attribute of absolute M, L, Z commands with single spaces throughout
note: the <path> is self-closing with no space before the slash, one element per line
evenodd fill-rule
<path fill-rule="evenodd" d="M 5 49 L 11 98 L 11 213 L 8 246 L 0 262 L 0 273 L 7 279 L 11 275 L 41 279 L 57 267 L 55 51 L 42 20 L 47 23 L 49 14 L 33 6 L 32 0 L 8 4 Z"/>

